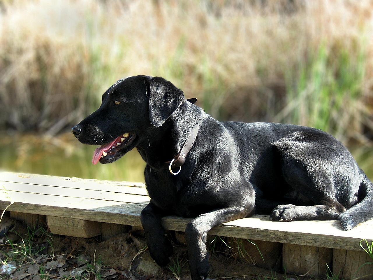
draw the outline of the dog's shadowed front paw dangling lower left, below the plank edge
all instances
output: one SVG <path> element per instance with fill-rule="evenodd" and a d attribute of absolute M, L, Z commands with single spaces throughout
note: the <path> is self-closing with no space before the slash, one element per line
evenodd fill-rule
<path fill-rule="evenodd" d="M 148 249 L 151 257 L 162 267 L 166 266 L 172 255 L 172 244 L 166 236 L 156 238 L 148 242 Z"/>

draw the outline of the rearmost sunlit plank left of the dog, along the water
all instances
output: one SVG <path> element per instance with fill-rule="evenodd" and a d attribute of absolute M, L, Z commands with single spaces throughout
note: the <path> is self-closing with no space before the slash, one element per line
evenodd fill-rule
<path fill-rule="evenodd" d="M 68 187 L 85 190 L 106 190 L 108 192 L 129 193 L 145 196 L 148 195 L 144 183 L 82 179 L 75 177 L 69 178 L 13 172 L 0 172 L 0 181 L 42 186 Z"/>

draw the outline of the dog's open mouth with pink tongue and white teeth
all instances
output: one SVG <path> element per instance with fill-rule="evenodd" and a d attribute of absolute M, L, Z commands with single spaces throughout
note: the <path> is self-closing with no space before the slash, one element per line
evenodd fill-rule
<path fill-rule="evenodd" d="M 125 133 L 118 136 L 116 139 L 110 143 L 103 144 L 94 150 L 92 163 L 97 164 L 100 159 L 110 159 L 117 152 L 127 147 L 135 139 L 135 134 Z"/>

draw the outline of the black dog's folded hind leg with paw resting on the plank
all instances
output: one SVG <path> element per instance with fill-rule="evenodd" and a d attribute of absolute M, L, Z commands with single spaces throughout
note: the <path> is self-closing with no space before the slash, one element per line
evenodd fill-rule
<path fill-rule="evenodd" d="M 338 171 L 335 171 L 332 155 L 328 158 L 327 152 L 318 149 L 314 143 L 286 141 L 280 144 L 277 143 L 282 156 L 280 168 L 283 178 L 292 192 L 307 199 L 309 206 L 278 205 L 273 209 L 270 220 L 338 220 L 346 208 L 336 198 L 339 186 L 335 178 Z M 285 145 L 286 149 L 281 149 Z M 323 159 L 322 164 L 320 159 Z M 344 183 L 349 184 L 351 180 L 345 177 Z M 298 202 L 303 204 L 297 199 L 292 203 Z"/>

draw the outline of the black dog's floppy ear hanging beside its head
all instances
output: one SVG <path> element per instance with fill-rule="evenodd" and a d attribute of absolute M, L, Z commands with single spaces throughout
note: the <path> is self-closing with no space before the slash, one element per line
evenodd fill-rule
<path fill-rule="evenodd" d="M 153 77 L 148 82 L 149 119 L 152 125 L 159 127 L 179 108 L 185 97 L 182 90 L 161 77 Z"/>

